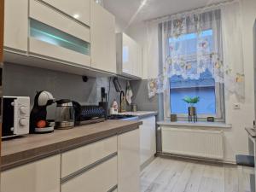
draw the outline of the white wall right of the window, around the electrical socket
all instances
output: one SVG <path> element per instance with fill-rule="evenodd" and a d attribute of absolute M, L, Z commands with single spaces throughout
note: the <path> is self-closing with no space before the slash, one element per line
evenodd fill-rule
<path fill-rule="evenodd" d="M 254 119 L 253 91 L 253 23 L 256 19 L 256 1 L 243 0 L 243 55 L 245 73 L 245 102 L 240 110 L 233 109 L 236 97 L 226 97 L 226 121 L 232 124 L 230 131 L 225 131 L 225 159 L 234 160 L 236 154 L 248 153 L 248 137 L 245 127 L 251 127 Z M 234 40 L 234 39 L 230 39 Z"/>

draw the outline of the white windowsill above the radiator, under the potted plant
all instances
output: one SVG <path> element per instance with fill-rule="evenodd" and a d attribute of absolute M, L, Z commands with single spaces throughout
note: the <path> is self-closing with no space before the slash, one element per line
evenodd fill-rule
<path fill-rule="evenodd" d="M 225 124 L 221 122 L 188 122 L 177 121 L 171 122 L 170 120 L 158 121 L 157 125 L 171 125 L 171 126 L 189 126 L 189 127 L 215 127 L 215 128 L 231 128 L 231 124 Z"/>

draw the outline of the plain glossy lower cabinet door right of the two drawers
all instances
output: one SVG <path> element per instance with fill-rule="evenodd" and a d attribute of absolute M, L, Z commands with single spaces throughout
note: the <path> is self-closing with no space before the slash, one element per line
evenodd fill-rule
<path fill-rule="evenodd" d="M 140 191 L 140 132 L 126 132 L 118 137 L 119 192 Z"/>

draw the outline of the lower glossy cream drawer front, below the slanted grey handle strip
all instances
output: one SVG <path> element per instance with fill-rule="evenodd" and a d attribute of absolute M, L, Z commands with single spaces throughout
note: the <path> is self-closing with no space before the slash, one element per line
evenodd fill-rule
<path fill-rule="evenodd" d="M 100 152 L 99 152 L 100 153 Z M 61 192 L 106 192 L 117 184 L 117 157 L 61 184 Z"/>

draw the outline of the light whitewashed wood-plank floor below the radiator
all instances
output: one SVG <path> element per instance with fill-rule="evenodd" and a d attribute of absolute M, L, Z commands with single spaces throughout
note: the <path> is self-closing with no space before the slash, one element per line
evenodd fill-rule
<path fill-rule="evenodd" d="M 249 189 L 249 175 L 243 177 Z M 156 158 L 141 172 L 141 192 L 238 192 L 236 166 Z"/>

